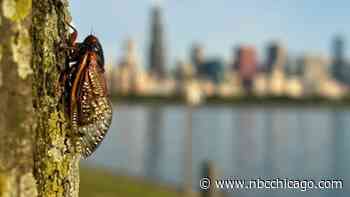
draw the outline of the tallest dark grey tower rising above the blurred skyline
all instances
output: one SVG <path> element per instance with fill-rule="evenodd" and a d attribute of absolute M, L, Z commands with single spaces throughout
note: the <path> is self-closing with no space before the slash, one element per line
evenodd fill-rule
<path fill-rule="evenodd" d="M 163 24 L 161 21 L 161 7 L 156 4 L 151 13 L 151 40 L 149 52 L 149 68 L 157 78 L 165 76 L 165 51 L 163 43 Z"/>

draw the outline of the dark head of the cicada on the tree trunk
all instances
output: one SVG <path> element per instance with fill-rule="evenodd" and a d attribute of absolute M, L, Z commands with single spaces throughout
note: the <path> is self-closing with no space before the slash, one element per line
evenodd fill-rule
<path fill-rule="evenodd" d="M 97 55 L 97 62 L 98 65 L 102 67 L 104 66 L 104 55 L 103 55 L 103 49 L 100 41 L 97 39 L 94 35 L 89 35 L 84 39 L 84 42 L 82 43 L 82 46 L 84 48 L 85 52 L 95 52 Z"/>

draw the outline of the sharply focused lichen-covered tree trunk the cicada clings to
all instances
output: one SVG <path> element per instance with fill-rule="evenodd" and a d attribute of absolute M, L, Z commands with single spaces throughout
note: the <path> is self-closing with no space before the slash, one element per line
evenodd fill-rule
<path fill-rule="evenodd" d="M 36 118 L 34 173 L 39 196 L 77 197 L 79 156 L 56 87 L 65 64 L 60 45 L 67 40 L 67 0 L 33 3 L 33 102 Z"/>

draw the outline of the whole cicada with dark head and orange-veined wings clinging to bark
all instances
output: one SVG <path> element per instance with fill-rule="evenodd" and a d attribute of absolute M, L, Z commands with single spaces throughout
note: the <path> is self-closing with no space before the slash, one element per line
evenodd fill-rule
<path fill-rule="evenodd" d="M 68 24 L 69 25 L 69 24 Z M 81 155 L 90 156 L 100 145 L 112 122 L 112 105 L 107 90 L 102 46 L 94 35 L 76 42 L 78 32 L 68 40 L 66 69 L 60 83 L 71 129 L 77 134 Z"/>

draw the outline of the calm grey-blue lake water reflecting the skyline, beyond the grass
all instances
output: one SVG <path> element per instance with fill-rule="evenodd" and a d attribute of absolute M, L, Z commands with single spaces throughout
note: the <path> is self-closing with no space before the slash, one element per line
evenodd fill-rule
<path fill-rule="evenodd" d="M 348 197 L 349 142 L 345 109 L 203 106 L 190 113 L 181 105 L 124 104 L 114 107 L 109 134 L 84 163 L 176 187 L 192 172 L 198 190 L 203 162 L 210 160 L 222 177 L 344 180 L 342 190 L 242 190 L 228 196 Z"/>

